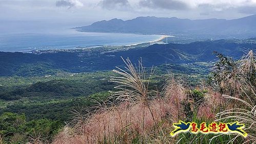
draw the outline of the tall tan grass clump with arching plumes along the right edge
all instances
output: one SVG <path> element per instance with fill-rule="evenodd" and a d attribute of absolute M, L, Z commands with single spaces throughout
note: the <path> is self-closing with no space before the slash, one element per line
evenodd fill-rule
<path fill-rule="evenodd" d="M 226 76 L 223 79 L 223 97 L 228 99 L 227 104 L 232 105 L 227 110 L 216 114 L 217 120 L 239 121 L 245 125 L 245 132 L 248 133 L 244 143 L 256 143 L 256 64 L 252 50 L 235 63 L 232 72 L 220 75 Z M 225 94 L 228 93 L 228 94 Z M 232 103 L 233 104 L 232 104 Z M 232 138 L 233 142 L 239 135 Z"/>

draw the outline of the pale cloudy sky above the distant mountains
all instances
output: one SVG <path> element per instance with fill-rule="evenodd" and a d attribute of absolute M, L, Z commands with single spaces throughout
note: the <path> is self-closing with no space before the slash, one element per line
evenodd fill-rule
<path fill-rule="evenodd" d="M 137 16 L 233 19 L 256 14 L 256 0 L 0 0 L 0 20 L 77 25 Z"/>

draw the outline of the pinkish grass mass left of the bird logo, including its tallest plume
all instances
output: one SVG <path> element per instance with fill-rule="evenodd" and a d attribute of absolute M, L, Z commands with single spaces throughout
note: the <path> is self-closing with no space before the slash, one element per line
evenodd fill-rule
<path fill-rule="evenodd" d="M 113 71 L 120 76 L 110 79 L 120 84 L 116 87 L 120 91 L 114 92 L 111 100 L 86 118 L 82 109 L 73 110 L 72 125 L 67 125 L 53 143 L 132 143 L 134 140 L 146 143 L 152 140 L 148 137 L 150 133 L 157 135 L 159 142 L 166 141 L 163 128 L 172 127 L 172 122 L 181 115 L 175 99 L 183 99 L 184 88 L 173 79 L 166 92 L 170 94 L 165 97 L 151 95 L 153 91 L 148 86 L 152 69 L 147 73 L 141 61 L 139 68 L 134 67 L 129 59 L 124 62 L 126 71 L 117 68 Z"/>

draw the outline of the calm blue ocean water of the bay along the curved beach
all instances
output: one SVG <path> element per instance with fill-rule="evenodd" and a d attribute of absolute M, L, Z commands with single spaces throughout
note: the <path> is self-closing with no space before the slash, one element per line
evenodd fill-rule
<path fill-rule="evenodd" d="M 160 37 L 161 35 L 77 32 L 74 29 L 2 32 L 0 33 L 0 51 L 26 52 L 31 50 L 75 49 L 77 46 L 123 46 L 150 42 Z"/>

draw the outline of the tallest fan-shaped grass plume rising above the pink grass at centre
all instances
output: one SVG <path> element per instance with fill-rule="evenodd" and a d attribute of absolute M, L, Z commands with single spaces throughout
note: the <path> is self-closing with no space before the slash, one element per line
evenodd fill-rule
<path fill-rule="evenodd" d="M 122 58 L 123 59 L 123 58 Z M 149 99 L 148 85 L 151 80 L 153 69 L 149 74 L 146 73 L 145 68 L 142 65 L 142 61 L 139 61 L 139 68 L 135 68 L 130 59 L 123 59 L 126 64 L 125 70 L 116 67 L 117 70 L 113 72 L 120 74 L 121 76 L 112 77 L 110 81 L 120 84 L 115 87 L 120 91 L 115 92 L 114 97 L 120 101 L 139 102 L 146 103 Z"/>

